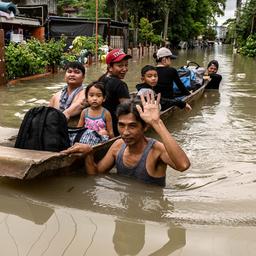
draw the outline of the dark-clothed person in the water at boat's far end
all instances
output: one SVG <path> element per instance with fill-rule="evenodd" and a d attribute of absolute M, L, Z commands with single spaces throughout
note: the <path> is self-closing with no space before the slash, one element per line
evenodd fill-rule
<path fill-rule="evenodd" d="M 211 60 L 208 63 L 205 75 L 210 77 L 210 81 L 207 84 L 206 89 L 219 89 L 222 76 L 217 74 L 218 69 L 219 63 L 217 60 Z"/>

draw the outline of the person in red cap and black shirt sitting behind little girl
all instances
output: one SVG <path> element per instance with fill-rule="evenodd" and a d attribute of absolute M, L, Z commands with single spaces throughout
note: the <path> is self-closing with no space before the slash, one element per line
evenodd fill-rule
<path fill-rule="evenodd" d="M 115 136 L 119 135 L 116 117 L 117 106 L 130 98 L 128 86 L 123 81 L 128 71 L 128 59 L 130 58 L 132 56 L 124 53 L 121 49 L 111 50 L 106 56 L 107 72 L 98 79 L 105 85 L 106 99 L 103 107 L 111 113 Z"/>

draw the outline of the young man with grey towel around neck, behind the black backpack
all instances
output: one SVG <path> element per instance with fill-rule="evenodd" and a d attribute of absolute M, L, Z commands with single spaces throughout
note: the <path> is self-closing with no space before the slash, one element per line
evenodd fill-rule
<path fill-rule="evenodd" d="M 70 62 L 65 68 L 64 79 L 67 85 L 54 94 L 50 99 L 49 107 L 54 107 L 63 112 L 67 120 L 79 115 L 84 108 L 85 93 L 83 81 L 85 68 L 79 62 Z"/>

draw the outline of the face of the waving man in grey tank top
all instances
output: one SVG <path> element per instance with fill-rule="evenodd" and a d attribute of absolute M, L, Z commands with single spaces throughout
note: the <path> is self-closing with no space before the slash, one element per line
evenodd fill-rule
<path fill-rule="evenodd" d="M 128 146 L 134 145 L 140 141 L 146 130 L 132 113 L 119 116 L 117 127 L 121 138 Z"/>

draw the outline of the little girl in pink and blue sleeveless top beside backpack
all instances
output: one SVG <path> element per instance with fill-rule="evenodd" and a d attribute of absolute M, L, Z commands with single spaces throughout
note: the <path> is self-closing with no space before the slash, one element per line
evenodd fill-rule
<path fill-rule="evenodd" d="M 86 87 L 85 99 L 89 107 L 81 112 L 77 127 L 86 127 L 100 135 L 113 138 L 111 114 L 102 106 L 105 97 L 104 85 L 101 82 L 92 82 Z"/>

